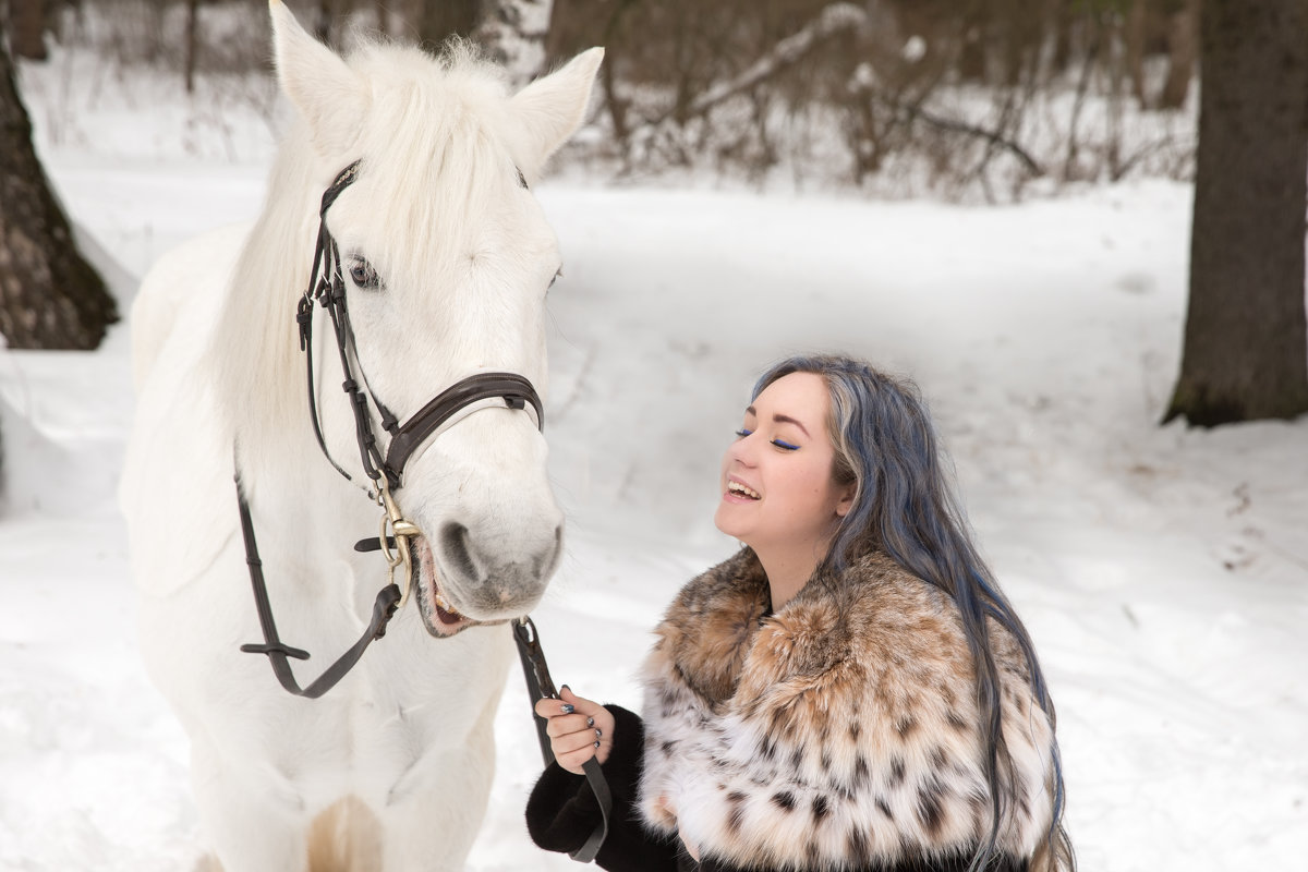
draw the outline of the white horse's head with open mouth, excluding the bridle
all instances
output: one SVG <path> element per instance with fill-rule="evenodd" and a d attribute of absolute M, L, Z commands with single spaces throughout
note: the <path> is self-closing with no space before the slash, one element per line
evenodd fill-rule
<path fill-rule="evenodd" d="M 544 394 L 545 293 L 561 260 L 527 186 L 581 123 L 602 50 L 510 95 L 466 47 L 434 59 L 371 44 L 341 59 L 279 0 L 271 7 L 279 77 L 306 145 L 298 158 L 311 167 L 313 205 L 300 208 L 317 212 L 322 190 L 358 161 L 324 221 L 370 394 L 400 421 L 476 373 L 514 373 Z M 320 316 L 315 332 L 331 333 Z M 331 366 L 318 399 L 324 439 L 353 472 L 336 365 L 319 366 Z M 417 447 L 395 495 L 422 531 L 415 596 L 433 634 L 535 605 L 559 562 L 562 515 L 530 407 L 487 400 L 455 416 Z"/>

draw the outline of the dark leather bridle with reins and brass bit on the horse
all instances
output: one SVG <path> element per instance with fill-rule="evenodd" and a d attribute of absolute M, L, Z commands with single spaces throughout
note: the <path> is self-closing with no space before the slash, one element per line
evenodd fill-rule
<path fill-rule="evenodd" d="M 360 161 L 354 161 L 341 170 L 335 180 L 323 192 L 322 205 L 318 210 L 318 244 L 314 251 L 314 263 L 309 276 L 309 286 L 301 295 L 296 306 L 296 322 L 300 326 L 300 349 L 305 353 L 305 373 L 309 394 L 309 417 L 313 421 L 314 435 L 318 447 L 331 465 L 348 481 L 352 476 L 331 456 L 327 442 L 323 438 L 322 422 L 318 414 L 317 391 L 314 383 L 314 354 L 313 354 L 313 322 L 314 302 L 327 310 L 332 329 L 336 337 L 336 350 L 340 354 L 341 371 L 345 375 L 341 390 L 349 397 L 351 411 L 354 416 L 354 438 L 358 443 L 360 460 L 364 475 L 370 481 L 368 494 L 382 509 L 381 531 L 377 537 L 361 540 L 354 545 L 356 550 L 382 550 L 387 562 L 387 584 L 383 587 L 373 603 L 373 617 L 364 634 L 340 655 L 317 680 L 309 686 L 301 688 L 290 669 L 289 658 L 307 660 L 309 652 L 293 648 L 281 642 L 277 635 L 276 621 L 272 616 L 272 605 L 268 600 L 268 588 L 263 577 L 263 562 L 259 558 L 259 545 L 255 537 L 254 522 L 250 515 L 250 505 L 246 501 L 241 486 L 241 473 L 235 475 L 237 505 L 241 515 L 241 533 L 245 541 L 246 563 L 250 569 L 250 582 L 254 587 L 255 608 L 259 614 L 259 625 L 263 630 L 264 641 L 259 645 L 242 645 L 241 650 L 247 654 L 263 654 L 268 656 L 272 671 L 281 686 L 300 697 L 315 699 L 334 688 L 358 663 L 364 651 L 374 639 L 386 634 L 386 625 L 395 612 L 408 601 L 409 587 L 413 577 L 413 554 L 411 539 L 421 535 L 419 527 L 404 519 L 395 501 L 394 492 L 404 485 L 404 469 L 422 444 L 441 429 L 450 418 L 468 407 L 483 400 L 502 400 L 510 409 L 523 411 L 530 404 L 536 414 L 536 426 L 544 431 L 545 416 L 540 403 L 540 396 L 530 380 L 515 373 L 476 373 L 459 379 L 450 387 L 437 394 L 421 409 L 413 413 L 403 424 L 382 403 L 364 373 L 360 362 L 358 346 L 354 343 L 354 331 L 349 320 L 349 309 L 345 302 L 345 280 L 341 273 L 340 250 L 331 231 L 327 230 L 327 210 L 332 207 L 340 193 L 348 188 L 358 176 Z M 522 173 L 518 173 L 519 184 L 526 188 L 527 182 Z M 357 377 L 356 377 L 357 365 Z M 360 387 L 362 384 L 362 388 Z M 365 395 L 366 391 L 366 395 Z M 369 400 L 377 409 L 382 429 L 388 435 L 386 452 L 378 439 L 373 416 L 369 412 Z M 484 407 L 490 408 L 490 407 Z M 394 550 L 392 550 L 394 549 Z M 403 587 L 396 584 L 395 573 L 400 570 Z M 527 690 L 531 702 L 535 705 L 540 697 L 557 697 L 553 682 L 549 679 L 549 669 L 545 665 L 544 652 L 540 648 L 539 635 L 535 624 L 530 617 L 514 621 L 514 639 L 518 643 L 518 652 L 522 658 L 523 675 L 527 681 Z M 549 740 L 544 732 L 544 722 L 536 720 L 538 739 L 545 763 L 553 761 L 549 749 Z M 608 831 L 608 809 L 611 797 L 608 786 L 599 770 L 599 763 L 591 758 L 586 765 L 586 777 L 591 788 L 600 801 L 603 812 L 602 824 L 587 839 L 586 845 L 573 852 L 573 858 L 581 862 L 590 862 L 598 852 Z"/>

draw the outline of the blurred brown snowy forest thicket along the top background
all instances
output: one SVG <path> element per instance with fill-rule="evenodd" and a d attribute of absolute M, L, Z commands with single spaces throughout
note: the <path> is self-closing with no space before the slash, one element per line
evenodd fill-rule
<path fill-rule="evenodd" d="M 262 0 L 14 0 L 14 52 L 46 39 L 148 65 L 268 76 Z M 712 169 L 765 183 L 1011 200 L 1032 187 L 1194 171 L 1198 0 L 320 0 L 323 41 L 360 31 L 504 56 L 530 78 L 606 47 L 593 136 L 620 178 Z M 21 14 L 20 14 L 21 12 Z M 497 27 L 500 30 L 497 30 Z M 250 98 L 269 107 L 271 93 Z"/>

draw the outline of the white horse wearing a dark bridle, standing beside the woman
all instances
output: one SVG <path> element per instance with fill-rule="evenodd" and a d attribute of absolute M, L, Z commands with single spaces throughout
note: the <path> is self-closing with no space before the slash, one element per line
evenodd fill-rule
<path fill-rule="evenodd" d="M 220 231 L 166 255 L 132 310 L 139 397 L 120 499 L 141 648 L 190 735 L 204 838 L 226 872 L 314 868 L 323 822 L 335 838 L 347 817 L 377 843 L 368 868 L 462 868 L 513 659 L 504 621 L 536 604 L 561 548 L 534 414 L 487 401 L 420 446 L 395 492 L 428 535 L 415 540 L 416 603 L 319 699 L 286 693 L 262 655 L 238 650 L 263 638 L 233 471 L 281 638 L 314 655 L 296 664 L 307 684 L 360 637 L 387 579 L 378 554 L 353 550 L 378 535 L 381 510 L 320 311 L 315 399 L 326 450 L 351 481 L 309 420 L 296 306 L 319 199 L 360 162 L 326 227 L 353 366 L 395 416 L 488 370 L 543 388 L 560 255 L 527 183 L 581 123 L 603 51 L 510 95 L 467 51 L 437 60 L 370 44 L 341 59 L 279 0 L 271 12 L 298 119 L 263 213 L 247 235 Z"/>

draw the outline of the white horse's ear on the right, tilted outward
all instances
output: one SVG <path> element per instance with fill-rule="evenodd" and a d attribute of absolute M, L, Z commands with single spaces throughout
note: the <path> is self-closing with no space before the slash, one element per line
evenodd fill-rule
<path fill-rule="evenodd" d="M 513 111 L 523 132 L 522 153 L 514 157 L 527 180 L 535 180 L 545 159 L 581 127 L 603 59 L 603 48 L 589 48 L 514 95 Z"/>

